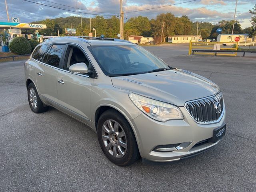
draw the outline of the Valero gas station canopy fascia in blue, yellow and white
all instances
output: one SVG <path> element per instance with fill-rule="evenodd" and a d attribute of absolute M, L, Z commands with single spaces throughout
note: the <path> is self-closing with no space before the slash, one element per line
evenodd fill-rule
<path fill-rule="evenodd" d="M 0 29 L 4 29 L 4 28 L 46 29 L 46 25 L 44 25 L 44 24 L 32 24 L 32 23 L 0 22 Z"/>

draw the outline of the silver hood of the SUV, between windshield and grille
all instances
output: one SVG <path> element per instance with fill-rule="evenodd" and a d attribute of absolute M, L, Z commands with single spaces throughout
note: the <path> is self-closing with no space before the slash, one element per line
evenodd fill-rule
<path fill-rule="evenodd" d="M 208 97 L 220 90 L 210 80 L 181 69 L 111 77 L 111 80 L 116 88 L 176 106 L 184 106 L 187 101 Z"/>

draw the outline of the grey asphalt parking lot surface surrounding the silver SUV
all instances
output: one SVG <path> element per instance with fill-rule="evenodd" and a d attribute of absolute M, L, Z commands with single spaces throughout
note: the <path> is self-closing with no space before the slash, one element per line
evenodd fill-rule
<path fill-rule="evenodd" d="M 160 166 L 139 160 L 118 167 L 90 128 L 54 108 L 43 114 L 30 110 L 24 61 L 0 63 L 0 191 L 256 191 L 256 58 L 146 48 L 220 86 L 227 131 L 215 148 Z"/>

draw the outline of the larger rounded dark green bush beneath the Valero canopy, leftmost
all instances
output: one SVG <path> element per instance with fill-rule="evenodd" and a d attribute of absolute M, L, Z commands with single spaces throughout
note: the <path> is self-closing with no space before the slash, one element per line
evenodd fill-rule
<path fill-rule="evenodd" d="M 10 42 L 9 45 L 10 51 L 18 54 L 25 55 L 31 53 L 31 45 L 24 37 L 16 37 Z"/>

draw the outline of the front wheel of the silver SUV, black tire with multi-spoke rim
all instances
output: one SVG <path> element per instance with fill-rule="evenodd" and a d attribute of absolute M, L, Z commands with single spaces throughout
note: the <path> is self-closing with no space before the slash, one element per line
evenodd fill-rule
<path fill-rule="evenodd" d="M 97 124 L 100 148 L 118 166 L 128 166 L 139 158 L 138 146 L 126 118 L 114 109 L 104 112 Z"/>

